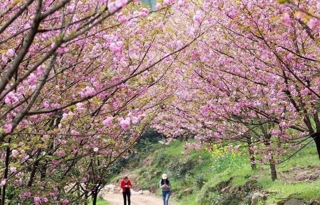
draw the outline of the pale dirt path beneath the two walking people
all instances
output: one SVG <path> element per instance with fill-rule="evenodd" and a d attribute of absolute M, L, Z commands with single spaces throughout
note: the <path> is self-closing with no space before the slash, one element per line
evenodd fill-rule
<path fill-rule="evenodd" d="M 121 193 L 105 193 L 102 197 L 111 205 L 123 204 L 123 197 Z M 131 194 L 130 198 L 131 205 L 163 205 L 162 198 L 155 195 Z M 169 200 L 169 205 L 174 205 L 174 203 Z"/>

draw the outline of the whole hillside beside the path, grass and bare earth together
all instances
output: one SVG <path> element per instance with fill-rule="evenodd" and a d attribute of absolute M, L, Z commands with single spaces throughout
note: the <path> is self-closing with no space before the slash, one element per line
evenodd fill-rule
<path fill-rule="evenodd" d="M 202 149 L 184 153 L 182 141 L 169 146 L 147 145 L 128 160 L 122 175 L 128 175 L 134 189 L 148 189 L 157 194 L 162 172 L 169 175 L 174 199 L 181 205 L 192 204 L 318 204 L 320 199 L 320 162 L 310 145 L 288 161 L 276 166 L 278 179 L 271 180 L 267 165 L 252 170 L 245 151 L 231 153 Z M 261 196 L 261 197 L 260 197 Z M 290 203 L 292 202 L 293 203 Z"/>

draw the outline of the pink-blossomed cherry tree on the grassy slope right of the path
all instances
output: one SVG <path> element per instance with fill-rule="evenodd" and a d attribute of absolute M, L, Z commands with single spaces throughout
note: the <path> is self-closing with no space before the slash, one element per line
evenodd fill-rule
<path fill-rule="evenodd" d="M 274 164 L 287 160 L 291 148 L 314 142 L 320 157 L 319 4 L 283 3 L 192 4 L 190 27 L 209 32 L 181 60 L 175 99 L 154 126 L 169 137 L 193 133 L 196 142 L 187 144 L 193 148 L 244 139 L 252 145 L 249 150 L 264 155 L 272 179 Z M 253 140 L 247 140 L 248 133 Z"/>

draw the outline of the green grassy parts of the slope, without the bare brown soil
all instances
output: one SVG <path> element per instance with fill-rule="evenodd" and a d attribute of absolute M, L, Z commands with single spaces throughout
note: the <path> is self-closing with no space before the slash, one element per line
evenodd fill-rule
<path fill-rule="evenodd" d="M 185 155 L 181 154 L 183 147 L 180 141 L 174 141 L 166 147 L 160 144 L 152 146 L 141 156 L 143 160 L 128 171 L 130 175 L 136 177 L 135 181 L 140 183 L 141 189 L 153 190 L 156 189 L 161 173 L 168 173 L 175 200 L 181 205 L 209 203 L 207 201 L 209 199 L 205 198 L 211 197 L 214 200 L 218 197 L 217 193 L 210 192 L 210 187 L 231 176 L 233 177 L 231 186 L 244 184 L 247 178 L 254 178 L 264 189 L 276 190 L 276 193 L 268 197 L 267 203 L 276 202 L 276 198 L 285 198 L 292 194 L 306 200 L 320 196 L 320 179 L 291 184 L 280 179 L 280 173 L 287 172 L 296 165 L 300 167 L 320 165 L 313 145 L 306 147 L 290 160 L 277 165 L 279 180 L 276 181 L 271 181 L 268 166 L 262 166 L 262 169 L 259 167 L 255 171 L 251 170 L 246 153 L 220 152 L 213 155 L 206 150 L 200 150 L 188 153 L 185 159 Z M 289 175 L 290 172 L 286 174 Z M 193 191 L 186 195 L 183 190 L 188 187 Z M 157 189 L 157 192 L 159 193 L 160 190 Z"/>

